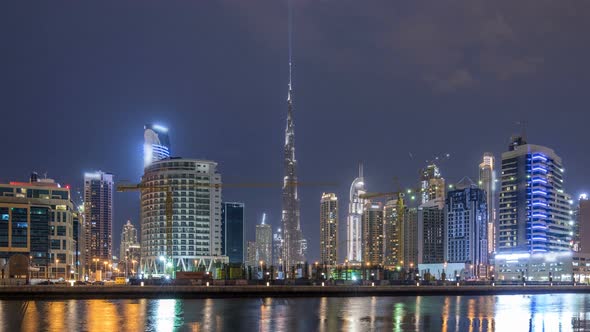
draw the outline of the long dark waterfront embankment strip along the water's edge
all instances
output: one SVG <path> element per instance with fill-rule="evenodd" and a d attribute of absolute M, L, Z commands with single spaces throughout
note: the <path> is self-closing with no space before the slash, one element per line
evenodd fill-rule
<path fill-rule="evenodd" d="M 590 293 L 590 286 L 6 286 L 0 300 L 192 299 Z"/>

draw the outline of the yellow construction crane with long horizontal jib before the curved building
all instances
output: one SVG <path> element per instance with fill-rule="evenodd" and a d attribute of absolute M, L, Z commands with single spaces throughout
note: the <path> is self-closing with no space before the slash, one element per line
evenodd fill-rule
<path fill-rule="evenodd" d="M 176 184 L 147 184 L 144 182 L 140 183 L 119 183 L 117 184 L 118 192 L 130 192 L 130 191 L 143 191 L 143 190 L 159 190 L 166 192 L 166 259 L 167 261 L 172 260 L 172 219 L 174 217 L 174 199 L 173 192 L 175 187 L 183 188 L 277 188 L 277 187 L 288 187 L 288 186 L 335 186 L 335 183 L 304 183 L 304 182 L 255 182 L 255 183 L 176 183 Z"/>

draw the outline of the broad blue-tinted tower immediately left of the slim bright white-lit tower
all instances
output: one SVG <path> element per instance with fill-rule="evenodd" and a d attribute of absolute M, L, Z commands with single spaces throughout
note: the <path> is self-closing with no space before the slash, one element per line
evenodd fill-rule
<path fill-rule="evenodd" d="M 488 193 L 474 185 L 447 192 L 445 261 L 488 264 Z"/>

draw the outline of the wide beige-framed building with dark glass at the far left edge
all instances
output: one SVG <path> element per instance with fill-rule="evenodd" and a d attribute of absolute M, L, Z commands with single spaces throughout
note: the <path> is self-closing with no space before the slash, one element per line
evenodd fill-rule
<path fill-rule="evenodd" d="M 31 259 L 33 278 L 78 278 L 79 222 L 70 189 L 51 179 L 0 184 L 0 265 L 20 254 Z M 27 277 L 3 269 L 5 278 Z"/>

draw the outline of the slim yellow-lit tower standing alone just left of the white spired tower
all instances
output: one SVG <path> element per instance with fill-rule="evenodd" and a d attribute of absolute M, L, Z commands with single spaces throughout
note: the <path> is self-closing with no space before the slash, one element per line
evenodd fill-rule
<path fill-rule="evenodd" d="M 322 194 L 320 200 L 320 262 L 338 264 L 338 197 Z"/>

